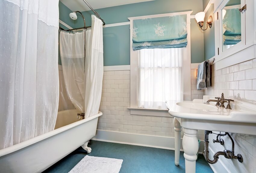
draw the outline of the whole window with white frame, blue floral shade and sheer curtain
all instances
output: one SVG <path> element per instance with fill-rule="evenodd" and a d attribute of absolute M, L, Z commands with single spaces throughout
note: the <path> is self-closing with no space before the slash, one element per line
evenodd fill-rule
<path fill-rule="evenodd" d="M 167 100 L 191 100 L 191 12 L 129 18 L 131 42 L 129 109 L 166 111 Z M 155 22 L 156 20 L 160 22 Z M 173 25 L 168 23 L 169 21 L 178 24 Z M 151 23 L 155 23 L 155 28 Z M 145 24 L 144 28 L 143 24 Z M 170 27 L 176 28 L 170 29 Z M 152 40 L 143 41 L 139 36 Z M 170 39 L 167 38 L 168 36 Z M 181 37 L 172 39 L 175 36 Z"/>

